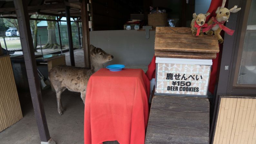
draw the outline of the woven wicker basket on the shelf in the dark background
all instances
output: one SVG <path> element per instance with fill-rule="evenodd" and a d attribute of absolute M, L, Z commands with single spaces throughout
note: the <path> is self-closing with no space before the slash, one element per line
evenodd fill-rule
<path fill-rule="evenodd" d="M 155 29 L 156 26 L 167 26 L 167 14 L 166 13 L 154 13 L 148 14 L 148 25 Z"/>

